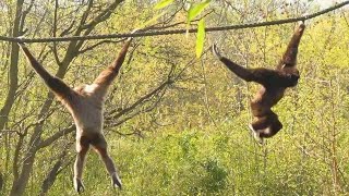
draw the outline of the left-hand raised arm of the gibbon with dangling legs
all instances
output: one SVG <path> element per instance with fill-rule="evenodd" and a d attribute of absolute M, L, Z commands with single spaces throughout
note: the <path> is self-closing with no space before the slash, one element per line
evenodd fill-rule
<path fill-rule="evenodd" d="M 19 42 L 22 48 L 24 54 L 31 62 L 31 65 L 35 70 L 35 72 L 44 79 L 45 84 L 58 96 L 61 98 L 67 98 L 72 89 L 60 78 L 51 75 L 47 72 L 44 66 L 35 59 L 35 57 L 31 53 L 28 48 L 23 42 Z"/>

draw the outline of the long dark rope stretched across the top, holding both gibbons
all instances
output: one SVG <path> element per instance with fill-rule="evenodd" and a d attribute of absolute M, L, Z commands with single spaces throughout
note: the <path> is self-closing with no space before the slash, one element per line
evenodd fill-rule
<path fill-rule="evenodd" d="M 228 25 L 228 26 L 216 26 L 207 27 L 206 32 L 218 32 L 218 30 L 229 30 L 229 29 L 241 29 L 241 28 L 254 28 L 261 26 L 272 26 L 287 23 L 294 23 L 298 21 L 306 21 L 320 15 L 323 15 L 327 12 L 337 10 L 341 7 L 349 4 L 348 1 L 344 1 L 334 7 L 324 9 L 322 11 L 315 12 L 313 14 L 303 15 L 299 17 L 291 17 L 278 21 L 267 21 L 261 23 L 250 23 L 250 24 L 238 24 L 238 25 Z M 170 30 L 158 30 L 158 32 L 142 32 L 136 33 L 127 33 L 127 34 L 108 34 L 108 35 L 89 35 L 89 36 L 72 36 L 72 37 L 49 37 L 49 38 L 17 38 L 17 37 L 5 37 L 0 36 L 0 41 L 12 41 L 12 42 L 52 42 L 52 41 L 72 41 L 72 40 L 87 40 L 87 39 L 110 39 L 110 38 L 125 38 L 125 37 L 148 37 L 148 36 L 159 36 L 159 35 L 173 35 L 173 34 L 185 34 L 185 33 L 196 33 L 197 28 L 189 29 L 170 29 Z"/>

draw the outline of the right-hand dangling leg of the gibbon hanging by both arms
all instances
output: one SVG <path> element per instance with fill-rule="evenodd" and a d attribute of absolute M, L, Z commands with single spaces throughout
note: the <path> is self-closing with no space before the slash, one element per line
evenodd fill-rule
<path fill-rule="evenodd" d="M 112 159 L 108 155 L 108 151 L 107 151 L 108 145 L 105 136 L 103 134 L 98 134 L 98 136 L 96 136 L 96 138 L 94 138 L 91 144 L 93 145 L 95 150 L 99 154 L 103 162 L 105 163 L 106 169 L 111 176 L 112 186 L 113 187 L 118 186 L 119 188 L 121 188 L 122 187 L 121 180 L 118 175 L 118 172 Z"/>

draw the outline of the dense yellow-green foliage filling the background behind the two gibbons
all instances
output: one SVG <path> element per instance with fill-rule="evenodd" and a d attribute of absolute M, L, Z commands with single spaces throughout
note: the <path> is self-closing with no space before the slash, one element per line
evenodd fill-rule
<path fill-rule="evenodd" d="M 5 10 L 0 2 L 0 35 L 10 32 L 15 9 L 14 2 L 5 2 L 11 9 Z M 177 23 L 176 27 L 185 27 L 186 11 L 179 9 L 180 2 L 166 8 L 168 13 L 159 17 L 158 27 Z M 205 13 L 214 11 L 205 17 L 206 26 L 285 19 L 316 10 L 314 4 L 302 3 L 286 8 L 275 3 L 270 9 L 264 1 L 228 2 L 240 12 L 226 3 L 212 2 L 205 10 Z M 125 1 L 106 22 L 98 24 L 93 34 L 130 32 L 161 12 L 153 9 L 154 3 Z M 88 20 L 107 4 L 97 3 Z M 74 7 L 59 10 L 59 33 L 71 23 L 71 17 L 80 21 L 86 4 L 80 7 L 74 14 L 70 14 Z M 44 13 L 39 8 L 47 9 L 45 19 L 40 17 Z M 29 12 L 25 23 L 28 35 L 52 36 L 52 12 L 49 3 Z M 246 126 L 251 121 L 249 101 L 257 85 L 237 78 L 210 51 L 204 51 L 203 57 L 196 59 L 194 34 L 135 39 L 106 102 L 105 133 L 123 189 L 111 188 L 101 161 L 91 151 L 83 195 L 348 195 L 348 9 L 340 10 L 306 22 L 298 58 L 301 81 L 274 108 L 284 128 L 263 146 L 254 142 Z M 12 16 L 3 19 L 3 15 Z M 38 23 L 43 27 L 37 27 Z M 293 27 L 288 24 L 210 33 L 206 35 L 205 47 L 217 41 L 222 53 L 242 65 L 274 68 Z M 72 86 L 92 81 L 121 48 L 121 44 L 104 42 L 88 50 L 94 44 L 97 40 L 84 42 L 80 51 L 87 50 L 68 63 L 63 77 Z M 5 64 L 0 69 L 0 107 L 9 91 L 10 48 L 0 42 L 0 60 Z M 64 63 L 57 65 L 52 44 L 31 44 L 29 48 L 51 73 L 64 66 Z M 58 44 L 59 59 L 67 57 L 68 48 L 68 42 Z M 31 136 L 36 126 L 32 124 L 39 119 L 44 102 L 51 100 L 46 86 L 22 54 L 17 77 L 16 99 L 3 130 L 20 134 L 3 132 L 0 135 L 4 195 L 10 194 L 17 173 L 28 169 L 21 167 L 35 146 Z M 168 85 L 142 99 L 164 83 Z M 141 105 L 122 113 L 139 100 Z M 53 101 L 46 113 L 45 117 L 50 115 L 43 124 L 41 140 L 71 124 L 70 115 L 59 102 Z M 48 195 L 74 195 L 74 134 L 62 135 L 48 146 L 37 146 L 24 195 L 38 195 L 58 161 L 62 163 Z"/>

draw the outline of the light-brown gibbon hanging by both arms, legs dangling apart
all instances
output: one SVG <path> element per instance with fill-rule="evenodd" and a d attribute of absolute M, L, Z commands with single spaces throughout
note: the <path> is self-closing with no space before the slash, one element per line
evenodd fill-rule
<path fill-rule="evenodd" d="M 107 151 L 107 142 L 103 134 L 103 115 L 108 87 L 118 75 L 130 44 L 131 38 L 127 40 L 115 62 L 104 70 L 91 85 L 82 85 L 76 88 L 69 87 L 62 79 L 47 72 L 29 52 L 28 48 L 24 44 L 20 44 L 33 69 L 69 110 L 75 122 L 77 156 L 74 163 L 73 183 L 77 193 L 84 191 L 82 174 L 89 146 L 99 154 L 111 176 L 113 187 L 118 186 L 121 188 L 121 181 L 117 169 Z"/>

